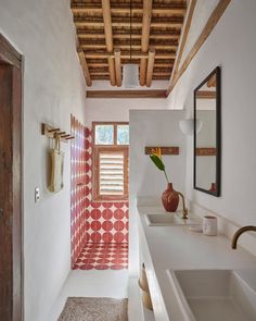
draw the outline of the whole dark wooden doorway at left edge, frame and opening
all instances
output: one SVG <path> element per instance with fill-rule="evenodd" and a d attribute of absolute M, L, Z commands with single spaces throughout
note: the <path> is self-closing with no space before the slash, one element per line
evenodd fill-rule
<path fill-rule="evenodd" d="M 23 320 L 22 55 L 0 34 L 0 320 Z"/>

